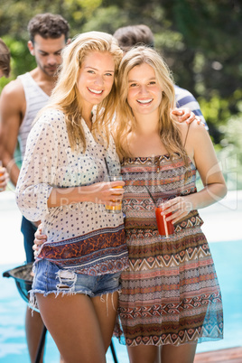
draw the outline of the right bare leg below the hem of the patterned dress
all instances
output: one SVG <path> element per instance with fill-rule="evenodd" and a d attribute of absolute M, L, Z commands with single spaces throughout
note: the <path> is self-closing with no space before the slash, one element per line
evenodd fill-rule
<path fill-rule="evenodd" d="M 162 363 L 193 363 L 197 344 L 183 344 L 180 347 L 164 345 Z"/>

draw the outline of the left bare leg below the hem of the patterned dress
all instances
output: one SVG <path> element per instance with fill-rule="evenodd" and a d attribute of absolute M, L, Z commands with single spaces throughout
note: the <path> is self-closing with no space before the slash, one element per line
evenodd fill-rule
<path fill-rule="evenodd" d="M 139 345 L 127 347 L 130 363 L 154 363 L 159 362 L 159 347 L 155 345 Z M 176 362 L 177 363 L 177 362 Z"/>

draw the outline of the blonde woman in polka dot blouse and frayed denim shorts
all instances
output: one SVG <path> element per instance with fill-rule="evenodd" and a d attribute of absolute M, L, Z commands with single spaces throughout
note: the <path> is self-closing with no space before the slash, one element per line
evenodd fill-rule
<path fill-rule="evenodd" d="M 106 361 L 127 266 L 123 215 L 105 209 L 122 199 L 114 187 L 124 185 L 107 182 L 107 165 L 109 172 L 120 168 L 107 124 L 122 55 L 107 33 L 83 33 L 66 47 L 49 105 L 28 137 L 16 189 L 23 215 L 42 219 L 47 236 L 31 299 L 65 363 Z"/>

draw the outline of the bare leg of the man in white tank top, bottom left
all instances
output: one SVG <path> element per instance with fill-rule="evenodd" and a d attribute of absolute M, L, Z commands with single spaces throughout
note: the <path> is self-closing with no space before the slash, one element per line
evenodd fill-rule
<path fill-rule="evenodd" d="M 32 312 L 32 310 L 29 307 L 27 307 L 25 314 L 25 332 L 29 349 L 29 355 L 32 363 L 35 361 L 35 357 L 39 347 L 39 342 L 42 335 L 42 329 L 43 329 L 43 323 L 42 323 L 41 314 L 39 312 L 34 312 L 34 311 Z M 42 359 L 40 363 L 42 363 Z"/>

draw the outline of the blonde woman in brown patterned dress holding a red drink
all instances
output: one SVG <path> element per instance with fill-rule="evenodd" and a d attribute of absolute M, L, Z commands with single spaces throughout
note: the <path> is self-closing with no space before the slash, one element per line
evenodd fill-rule
<path fill-rule="evenodd" d="M 205 128 L 172 120 L 172 76 L 156 51 L 128 51 L 117 88 L 129 253 L 117 335 L 131 363 L 191 363 L 198 342 L 223 334 L 219 282 L 197 209 L 223 198 L 226 184 Z M 204 185 L 198 192 L 196 170 Z M 164 216 L 172 212 L 169 237 L 159 237 L 147 188 L 154 200 L 166 200 Z"/>

